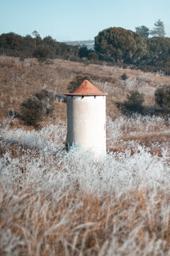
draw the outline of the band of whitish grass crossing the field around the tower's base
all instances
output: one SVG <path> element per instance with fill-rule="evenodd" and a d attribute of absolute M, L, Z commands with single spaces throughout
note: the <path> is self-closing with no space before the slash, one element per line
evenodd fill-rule
<path fill-rule="evenodd" d="M 125 121 L 127 121 L 125 118 L 115 122 L 108 120 L 111 141 L 118 139 L 122 134 L 119 126 L 124 125 Z M 137 121 L 134 122 L 137 124 Z M 59 140 L 62 132 L 65 136 L 65 127 L 59 129 L 59 126 L 50 126 L 44 127 L 43 132 L 16 129 L 1 133 L 4 139 L 10 141 L 15 139 L 28 147 L 32 146 L 25 149 L 26 154 L 21 156 L 21 159 L 11 158 L 9 153 L 1 158 L 1 180 L 5 181 L 4 176 L 8 176 L 9 180 L 17 181 L 18 176 L 21 176 L 19 170 L 22 168 L 26 173 L 24 178 L 21 178 L 23 184 L 34 183 L 38 179 L 42 184 L 45 183 L 45 186 L 46 182 L 52 184 L 63 184 L 63 181 L 66 184 L 78 182 L 81 189 L 98 193 L 99 196 L 103 191 L 114 190 L 119 193 L 122 189 L 125 191 L 141 184 L 158 187 L 162 186 L 162 183 L 169 182 L 169 169 L 165 164 L 165 161 L 168 161 L 166 151 L 164 157 L 159 158 L 149 154 L 149 149 L 135 143 L 136 153 L 133 156 L 130 156 L 130 150 L 126 150 L 124 153 L 108 154 L 106 158 L 96 160 L 89 151 L 79 152 L 78 149 L 72 149 L 67 153 L 63 147 L 58 147 L 54 140 Z M 52 139 L 50 134 L 53 136 Z M 29 159 L 34 149 L 39 150 L 39 156 Z"/>

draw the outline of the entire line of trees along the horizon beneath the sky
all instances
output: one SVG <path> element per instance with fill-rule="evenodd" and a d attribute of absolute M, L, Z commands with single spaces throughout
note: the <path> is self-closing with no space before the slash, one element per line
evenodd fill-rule
<path fill-rule="evenodd" d="M 111 65 L 133 65 L 142 70 L 163 70 L 170 74 L 170 38 L 164 37 L 164 23 L 158 20 L 152 31 L 145 26 L 133 32 L 124 28 L 106 28 L 95 37 L 95 50 L 86 46 L 69 46 L 55 41 L 51 36 L 41 38 L 38 31 L 32 36 L 19 36 L 16 33 L 3 33 L 0 36 L 0 54 L 14 57 L 64 58 L 87 63 L 103 63 Z M 154 37 L 148 38 L 152 34 Z M 156 35 L 156 36 L 155 36 Z"/>

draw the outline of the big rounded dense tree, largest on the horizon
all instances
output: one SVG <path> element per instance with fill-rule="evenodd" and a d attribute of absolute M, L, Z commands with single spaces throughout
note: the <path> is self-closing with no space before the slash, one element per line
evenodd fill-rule
<path fill-rule="evenodd" d="M 115 61 L 136 63 L 146 53 L 146 44 L 138 33 L 124 28 L 107 28 L 95 37 L 95 50 Z"/>

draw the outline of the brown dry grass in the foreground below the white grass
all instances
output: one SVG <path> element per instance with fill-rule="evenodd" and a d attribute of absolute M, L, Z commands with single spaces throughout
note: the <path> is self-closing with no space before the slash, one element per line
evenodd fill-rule
<path fill-rule="evenodd" d="M 8 255 L 9 244 L 12 255 L 18 256 L 169 251 L 170 197 L 164 191 L 157 191 L 153 203 L 147 188 L 118 198 L 114 193 L 98 198 L 77 189 L 77 184 L 69 193 L 29 186 L 23 191 L 15 188 L 12 196 L 4 194 L 0 225 L 6 239 L 1 242 L 1 255 Z"/>

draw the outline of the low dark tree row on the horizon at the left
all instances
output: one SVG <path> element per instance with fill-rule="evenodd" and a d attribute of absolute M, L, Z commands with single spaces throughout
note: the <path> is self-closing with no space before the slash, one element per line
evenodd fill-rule
<path fill-rule="evenodd" d="M 78 46 L 68 46 L 52 39 L 51 36 L 41 38 L 37 31 L 33 36 L 19 36 L 16 33 L 3 33 L 0 36 L 0 54 L 24 58 L 38 58 L 42 61 L 46 58 L 75 59 L 79 56 Z"/>

